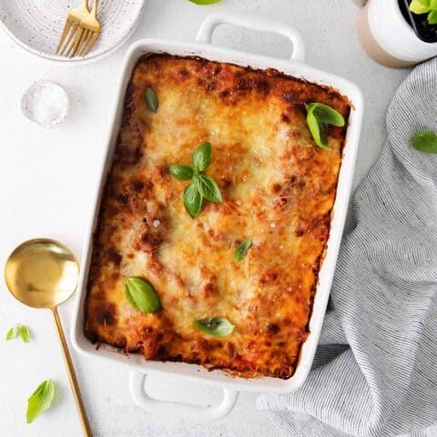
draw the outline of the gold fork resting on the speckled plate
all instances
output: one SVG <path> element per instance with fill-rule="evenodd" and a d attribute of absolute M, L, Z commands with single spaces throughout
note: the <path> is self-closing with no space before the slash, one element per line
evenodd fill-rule
<path fill-rule="evenodd" d="M 61 56 L 86 56 L 96 43 L 100 33 L 100 23 L 97 21 L 98 0 L 89 12 L 87 0 L 82 5 L 71 10 L 66 17 L 66 25 L 62 32 L 56 54 Z"/>

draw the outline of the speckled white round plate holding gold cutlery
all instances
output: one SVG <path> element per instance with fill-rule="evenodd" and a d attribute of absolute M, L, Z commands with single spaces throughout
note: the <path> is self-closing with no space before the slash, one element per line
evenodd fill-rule
<path fill-rule="evenodd" d="M 0 27 L 36 56 L 79 64 L 117 50 L 137 26 L 144 0 L 101 0 L 97 17 L 102 30 L 93 49 L 84 57 L 56 56 L 66 15 L 80 4 L 81 0 L 0 0 Z M 88 0 L 89 8 L 92 5 L 93 0 Z"/>

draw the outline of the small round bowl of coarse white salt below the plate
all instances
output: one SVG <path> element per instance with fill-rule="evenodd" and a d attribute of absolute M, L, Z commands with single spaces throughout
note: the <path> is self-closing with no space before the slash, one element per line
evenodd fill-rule
<path fill-rule="evenodd" d="M 51 129 L 66 118 L 68 95 L 56 82 L 37 80 L 25 90 L 21 108 L 29 120 Z"/>

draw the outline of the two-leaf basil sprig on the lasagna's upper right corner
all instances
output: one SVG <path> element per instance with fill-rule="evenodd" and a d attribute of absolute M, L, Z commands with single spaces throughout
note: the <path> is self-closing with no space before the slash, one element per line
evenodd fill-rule
<path fill-rule="evenodd" d="M 309 103 L 307 109 L 307 124 L 314 142 L 320 147 L 329 149 L 326 125 L 344 126 L 344 118 L 340 112 L 323 103 Z"/>

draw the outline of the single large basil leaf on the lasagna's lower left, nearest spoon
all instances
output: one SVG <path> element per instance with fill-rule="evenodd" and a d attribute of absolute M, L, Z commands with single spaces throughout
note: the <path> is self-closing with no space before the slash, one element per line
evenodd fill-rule
<path fill-rule="evenodd" d="M 135 276 L 127 278 L 125 294 L 127 300 L 137 310 L 152 313 L 162 309 L 157 292 L 146 279 Z"/>

